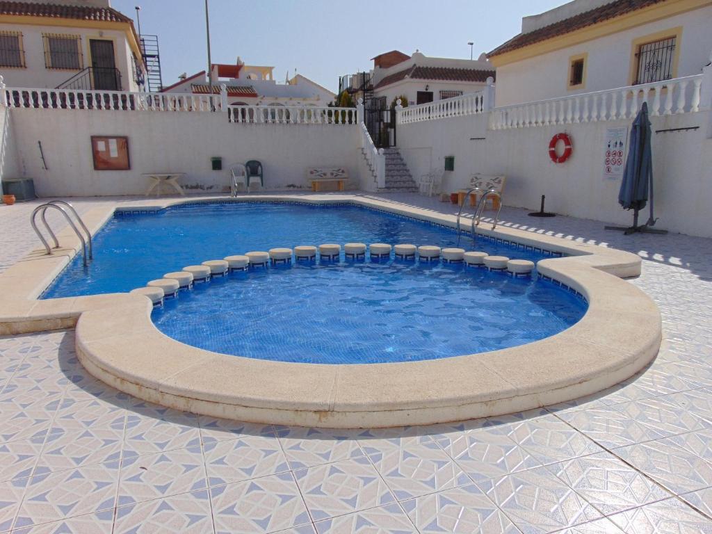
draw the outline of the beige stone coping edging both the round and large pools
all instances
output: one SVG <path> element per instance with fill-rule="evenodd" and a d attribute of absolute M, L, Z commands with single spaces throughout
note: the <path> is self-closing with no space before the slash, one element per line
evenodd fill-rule
<path fill-rule="evenodd" d="M 260 198 L 350 202 L 456 226 L 454 215 L 375 197 Z M 120 206 L 155 211 L 181 202 L 137 199 Z M 93 235 L 118 205 L 83 214 Z M 583 295 L 589 303 L 583 318 L 537 342 L 439 360 L 313 365 L 221 355 L 160 333 L 151 322 L 152 304 L 142 295 L 36 300 L 81 251 L 77 236 L 64 229 L 51 256 L 37 248 L 0 273 L 0 333 L 76 328 L 78 359 L 88 372 L 147 401 L 211 417 L 341 428 L 461 421 L 565 402 L 611 387 L 655 357 L 661 342 L 659 310 L 642 290 L 620 279 L 639 275 L 639 256 L 508 226 L 483 225 L 478 234 L 568 256 L 539 261 L 538 276 Z"/>

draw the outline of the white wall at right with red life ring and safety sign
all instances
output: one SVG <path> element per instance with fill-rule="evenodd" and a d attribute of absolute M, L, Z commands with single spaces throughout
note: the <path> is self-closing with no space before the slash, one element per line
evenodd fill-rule
<path fill-rule="evenodd" d="M 687 132 L 653 134 L 655 214 L 658 227 L 696 236 L 712 236 L 712 140 L 710 112 L 651 117 L 653 130 L 700 126 Z M 629 120 L 590 122 L 513 130 L 487 130 L 488 114 L 399 125 L 398 145 L 417 180 L 431 167 L 444 167 L 455 156 L 455 171 L 446 172 L 444 192 L 466 187 L 471 174 L 505 174 L 503 201 L 538 211 L 546 195 L 547 211 L 615 224 L 632 224 L 632 211 L 618 204 L 620 180 L 603 177 L 607 127 L 630 126 Z M 551 137 L 566 131 L 574 152 L 553 163 Z M 484 137 L 484 140 L 471 140 Z M 648 216 L 641 214 L 641 222 Z"/>

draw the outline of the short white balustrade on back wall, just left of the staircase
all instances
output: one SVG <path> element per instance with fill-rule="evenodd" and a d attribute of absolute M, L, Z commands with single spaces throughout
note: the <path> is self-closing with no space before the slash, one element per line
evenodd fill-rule
<path fill-rule="evenodd" d="M 311 105 L 231 105 L 230 122 L 239 124 L 355 125 L 356 108 L 318 108 Z"/>

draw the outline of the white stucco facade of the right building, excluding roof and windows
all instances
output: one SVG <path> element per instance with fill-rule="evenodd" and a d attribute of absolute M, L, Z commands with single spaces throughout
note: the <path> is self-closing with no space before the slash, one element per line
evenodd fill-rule
<path fill-rule="evenodd" d="M 677 43 L 680 48 L 677 77 L 699 74 L 709 63 L 712 51 L 712 6 L 499 66 L 496 103 L 519 104 L 630 85 L 632 42 L 678 26 L 683 29 Z M 586 83 L 583 88 L 569 90 L 569 58 L 581 53 L 588 53 Z"/>

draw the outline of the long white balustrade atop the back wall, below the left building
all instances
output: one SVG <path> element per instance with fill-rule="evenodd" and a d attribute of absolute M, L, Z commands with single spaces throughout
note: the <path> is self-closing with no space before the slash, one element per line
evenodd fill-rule
<path fill-rule="evenodd" d="M 9 108 L 120 111 L 220 111 L 220 94 L 132 93 L 130 91 L 5 88 Z"/>

